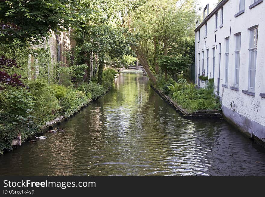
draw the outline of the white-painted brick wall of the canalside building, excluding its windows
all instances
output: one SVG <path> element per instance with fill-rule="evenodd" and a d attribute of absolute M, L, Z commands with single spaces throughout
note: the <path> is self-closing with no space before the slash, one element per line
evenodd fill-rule
<path fill-rule="evenodd" d="M 204 69 L 206 75 L 207 60 L 206 49 L 209 49 L 209 78 L 213 73 L 213 50 L 212 46 L 217 45 L 215 52 L 215 86 L 217 91 L 217 78 L 219 75 L 219 43 L 221 48 L 221 66 L 220 66 L 220 97 L 222 97 L 222 105 L 232 111 L 245 116 L 260 125 L 265 126 L 265 98 L 260 97 L 260 93 L 265 92 L 265 21 L 264 10 L 265 2 L 260 3 L 252 9 L 249 5 L 254 0 L 245 0 L 245 12 L 238 17 L 235 14 L 239 12 L 239 0 L 229 0 L 224 5 L 223 27 L 220 26 L 220 9 L 218 10 L 218 29 L 215 30 L 215 15 L 208 21 L 208 35 L 205 36 L 204 25 L 201 26 L 201 38 L 198 42 L 198 32 L 196 32 L 196 73 L 197 84 L 198 74 L 202 75 L 202 51 L 204 51 Z M 250 30 L 248 28 L 258 25 L 258 46 L 257 46 L 257 64 L 256 64 L 256 80 L 255 80 L 255 96 L 250 96 L 242 92 L 248 89 L 248 69 L 249 69 L 249 42 Z M 230 33 L 231 28 L 231 33 Z M 239 68 L 239 91 L 231 90 L 229 87 L 234 86 L 235 81 L 235 35 L 241 32 L 241 52 L 240 52 L 240 68 Z M 228 72 L 228 88 L 222 87 L 225 82 L 225 38 L 230 37 L 229 43 L 229 72 Z M 200 53 L 200 65 L 198 60 Z M 210 77 L 211 75 L 211 77 Z M 200 82 L 200 85 L 202 83 Z M 265 131 L 264 131 L 265 132 Z"/>

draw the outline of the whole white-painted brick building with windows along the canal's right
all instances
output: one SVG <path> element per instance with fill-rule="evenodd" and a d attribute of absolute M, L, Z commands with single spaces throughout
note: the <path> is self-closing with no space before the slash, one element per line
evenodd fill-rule
<path fill-rule="evenodd" d="M 223 0 L 195 29 L 198 76 L 214 78 L 225 119 L 265 142 L 265 2 Z"/>

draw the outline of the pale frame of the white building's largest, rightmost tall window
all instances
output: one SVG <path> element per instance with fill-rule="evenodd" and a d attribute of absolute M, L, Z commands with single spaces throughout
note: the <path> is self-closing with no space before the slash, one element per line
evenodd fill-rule
<path fill-rule="evenodd" d="M 256 36 L 256 45 L 254 47 L 251 46 L 251 33 L 252 31 L 254 30 L 257 30 L 256 33 L 255 33 L 255 36 Z M 256 80 L 256 65 L 257 65 L 257 40 L 258 40 L 258 26 L 255 26 L 251 29 L 249 29 L 250 31 L 250 36 L 249 36 L 249 63 L 248 63 L 248 91 L 255 91 L 255 80 Z M 255 60 L 254 60 L 254 68 L 251 69 L 251 53 L 254 52 L 254 57 L 255 57 Z M 254 84 L 254 87 L 251 87 L 250 84 L 251 84 L 251 75 L 250 75 L 250 72 L 251 70 L 254 70 L 254 81 L 253 81 L 253 84 Z"/>

